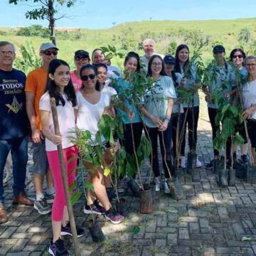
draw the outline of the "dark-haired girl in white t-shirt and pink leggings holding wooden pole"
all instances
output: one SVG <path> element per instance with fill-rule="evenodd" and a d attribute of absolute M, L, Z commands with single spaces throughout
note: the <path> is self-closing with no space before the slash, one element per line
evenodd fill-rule
<path fill-rule="evenodd" d="M 54 97 L 56 101 L 61 136 L 55 135 L 54 132 L 50 97 Z M 72 236 L 72 232 L 65 201 L 57 146 L 62 144 L 68 186 L 71 186 L 75 181 L 75 171 L 73 170 L 76 167 L 76 157 L 78 156 L 78 150 L 70 140 L 70 132 L 74 132 L 75 129 L 74 107 L 76 105 L 75 89 L 70 80 L 68 63 L 64 60 L 52 60 L 48 69 L 47 90 L 39 102 L 43 135 L 46 137 L 46 153 L 55 186 L 52 209 L 53 240 L 50 242 L 48 250 L 50 255 L 60 255 L 61 252 L 63 253 L 61 255 L 69 255 L 61 239 L 61 235 Z M 77 232 L 78 237 L 83 235 L 81 228 L 77 228 Z"/>

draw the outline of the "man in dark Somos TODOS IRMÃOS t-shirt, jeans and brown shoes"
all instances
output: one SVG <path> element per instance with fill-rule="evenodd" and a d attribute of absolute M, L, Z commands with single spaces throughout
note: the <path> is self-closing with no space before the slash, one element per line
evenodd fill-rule
<path fill-rule="evenodd" d="M 28 161 L 26 75 L 13 68 L 14 58 L 14 45 L 0 41 L 0 223 L 8 221 L 4 208 L 3 173 L 9 151 L 13 160 L 13 203 L 33 206 L 33 200 L 24 191 Z"/>

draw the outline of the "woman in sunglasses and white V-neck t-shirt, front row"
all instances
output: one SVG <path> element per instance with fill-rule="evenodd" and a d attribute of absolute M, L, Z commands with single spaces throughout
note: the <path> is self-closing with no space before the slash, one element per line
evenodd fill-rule
<path fill-rule="evenodd" d="M 98 131 L 97 124 L 102 118 L 102 114 L 107 114 L 110 106 L 110 97 L 106 93 L 101 93 L 96 90 L 97 85 L 97 70 L 95 66 L 87 64 L 83 65 L 80 69 L 80 78 L 82 80 L 82 87 L 80 92 L 77 92 L 78 99 L 78 114 L 77 114 L 77 127 L 82 130 L 88 130 L 92 136 L 92 151 L 97 154 L 98 142 L 95 135 Z M 107 147 L 107 142 L 104 137 L 102 145 Z M 94 186 L 94 193 L 97 200 L 100 201 L 102 206 L 97 200 L 92 200 L 92 191 L 87 191 L 87 204 L 83 211 L 86 214 L 95 213 L 97 215 L 105 215 L 107 220 L 112 223 L 120 223 L 124 217 L 119 215 L 112 207 L 103 179 L 103 170 L 101 168 L 95 169 L 90 162 L 84 161 L 83 164 L 88 170 L 88 181 Z"/>

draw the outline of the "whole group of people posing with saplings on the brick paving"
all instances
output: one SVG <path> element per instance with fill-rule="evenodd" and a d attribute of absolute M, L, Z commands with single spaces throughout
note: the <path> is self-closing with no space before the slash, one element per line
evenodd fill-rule
<path fill-rule="evenodd" d="M 52 211 L 53 240 L 48 250 L 50 255 L 69 255 L 61 235 L 72 235 L 63 181 L 60 178 L 57 146 L 62 144 L 68 184 L 71 186 L 76 178 L 74 169 L 78 164 L 79 149 L 74 140 L 70 139 L 70 132 L 75 129 L 90 131 L 90 146 L 93 154 L 97 154 L 97 124 L 103 114 L 121 117 L 124 137 L 119 139 L 119 143 L 124 146 L 127 161 L 137 152 L 144 130 L 151 143 L 150 162 L 156 191 L 161 189 L 158 157 L 160 144 L 164 192 L 176 199 L 183 196 L 182 187 L 178 182 L 178 169 L 172 164 L 172 157 L 176 159 L 180 154 L 179 164 L 181 168 L 186 168 L 186 129 L 189 149 L 196 151 L 200 102 L 198 90 L 194 88 L 201 84 L 202 80 L 198 75 L 196 63 L 191 63 L 189 48 L 185 44 L 178 46 L 174 57 L 156 53 L 156 43 L 151 38 L 144 40 L 143 46 L 142 57 L 134 52 L 127 53 L 123 72 L 105 60 L 105 54 L 100 48 L 92 51 L 91 58 L 86 50 L 75 51 L 76 69 L 71 71 L 68 63 L 57 58 L 59 49 L 53 43 L 42 43 L 39 50 L 42 65 L 26 78 L 22 71 L 13 67 L 14 45 L 0 41 L 0 223 L 8 221 L 4 208 L 3 174 L 7 156 L 11 151 L 14 204 L 33 206 L 40 214 Z M 234 63 L 231 65 L 225 60 L 225 48 L 219 45 L 213 48 L 213 57 L 215 62 L 208 68 L 208 75 L 213 78 L 214 73 L 214 79 L 203 82 L 213 139 L 219 128 L 219 124 L 215 122 L 218 105 L 213 102 L 213 94 L 216 88 L 225 84 L 221 97 L 238 96 L 241 99 L 244 109 L 242 116 L 247 122 L 252 156 L 255 159 L 256 57 L 245 58 L 242 49 L 234 49 L 230 53 L 230 61 Z M 129 97 L 126 99 L 123 94 L 134 87 L 132 74 L 142 70 L 153 83 L 150 90 L 145 90 L 138 103 Z M 242 76 L 241 90 L 237 90 L 237 71 Z M 183 100 L 179 95 L 179 89 L 183 87 L 188 89 L 187 92 L 191 96 L 189 100 Z M 118 96 L 122 99 L 122 105 L 112 107 L 113 97 Z M 51 97 L 55 98 L 61 135 L 54 132 Z M 33 142 L 35 200 L 28 198 L 25 192 L 29 133 Z M 247 142 L 245 132 L 242 136 Z M 118 143 L 110 145 L 104 137 L 101 137 L 101 141 L 105 148 L 104 157 L 109 153 L 110 147 L 113 147 L 114 151 L 118 150 Z M 235 154 L 236 149 L 233 151 Z M 220 153 L 214 149 L 215 158 Z M 247 144 L 241 145 L 241 159 L 245 164 L 249 161 Z M 87 178 L 94 187 L 94 191 L 87 191 L 84 213 L 104 215 L 112 223 L 120 223 L 124 216 L 112 207 L 111 198 L 107 193 L 112 184 L 103 175 L 102 168 L 95 169 L 90 161 L 82 161 L 82 164 L 89 170 Z M 201 166 L 201 161 L 196 159 L 196 167 Z M 212 167 L 213 161 L 206 166 L 208 169 Z M 44 177 L 47 184 L 46 193 L 43 193 Z M 132 178 L 136 178 L 136 171 Z M 53 203 L 53 206 L 50 206 L 50 203 Z M 83 235 L 82 229 L 77 228 L 77 231 L 78 237 Z"/>

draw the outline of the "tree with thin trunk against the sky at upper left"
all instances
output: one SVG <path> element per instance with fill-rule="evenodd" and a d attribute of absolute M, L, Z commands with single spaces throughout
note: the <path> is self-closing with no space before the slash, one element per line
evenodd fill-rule
<path fill-rule="evenodd" d="M 77 0 L 9 0 L 9 4 L 18 4 L 27 1 L 32 1 L 33 4 L 36 4 L 36 8 L 31 11 L 27 11 L 25 14 L 26 18 L 31 20 L 48 20 L 50 40 L 56 44 L 55 21 L 65 16 L 63 15 L 55 18 L 55 14 L 58 14 L 58 7 L 66 6 L 70 8 L 75 4 L 75 1 Z"/>

